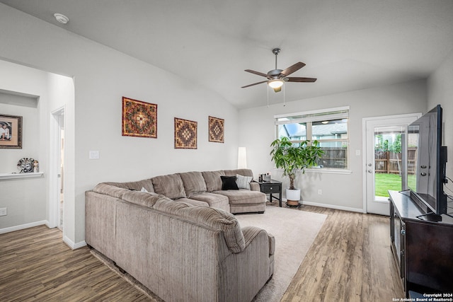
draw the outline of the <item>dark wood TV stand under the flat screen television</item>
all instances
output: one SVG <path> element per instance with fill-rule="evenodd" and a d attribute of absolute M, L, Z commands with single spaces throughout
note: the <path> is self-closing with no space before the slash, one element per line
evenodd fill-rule
<path fill-rule="evenodd" d="M 453 294 L 452 216 L 427 214 L 409 192 L 389 193 L 391 250 L 406 298 Z"/>

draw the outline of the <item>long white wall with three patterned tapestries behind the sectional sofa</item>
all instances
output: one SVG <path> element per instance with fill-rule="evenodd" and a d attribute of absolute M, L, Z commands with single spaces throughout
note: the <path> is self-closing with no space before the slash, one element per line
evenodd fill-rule
<path fill-rule="evenodd" d="M 0 57 L 74 78 L 74 243 L 84 240 L 84 193 L 98 182 L 235 168 L 238 112 L 219 95 L 4 4 L 0 28 Z M 121 136 L 122 96 L 158 104 L 157 139 Z M 225 120 L 224 144 L 207 141 L 209 115 Z M 198 122 L 198 149 L 173 148 L 173 117 Z"/>

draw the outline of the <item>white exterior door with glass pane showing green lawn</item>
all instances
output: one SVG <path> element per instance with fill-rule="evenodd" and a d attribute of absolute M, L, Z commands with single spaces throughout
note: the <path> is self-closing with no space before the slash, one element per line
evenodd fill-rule
<path fill-rule="evenodd" d="M 364 211 L 389 216 L 388 190 L 406 187 L 407 126 L 420 114 L 369 117 L 363 119 Z"/>

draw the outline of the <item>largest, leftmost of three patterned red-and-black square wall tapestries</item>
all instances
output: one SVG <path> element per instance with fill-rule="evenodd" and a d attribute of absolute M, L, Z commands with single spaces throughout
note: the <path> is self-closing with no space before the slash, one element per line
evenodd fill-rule
<path fill-rule="evenodd" d="M 122 97 L 122 136 L 157 138 L 157 105 Z"/>

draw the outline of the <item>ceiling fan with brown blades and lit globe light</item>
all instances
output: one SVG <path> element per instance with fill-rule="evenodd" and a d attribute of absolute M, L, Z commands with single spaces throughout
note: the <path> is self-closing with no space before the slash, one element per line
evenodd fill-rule
<path fill-rule="evenodd" d="M 268 83 L 268 85 L 274 89 L 275 92 L 282 91 L 283 83 L 285 82 L 309 82 L 313 83 L 316 81 L 314 78 L 300 78 L 300 77 L 288 77 L 289 74 L 292 74 L 294 71 L 298 71 L 302 67 L 305 66 L 302 62 L 297 62 L 296 64 L 289 66 L 287 69 L 277 69 L 277 55 L 280 53 L 280 48 L 274 48 L 272 50 L 273 54 L 275 54 L 275 69 L 268 71 L 268 74 L 263 74 L 259 71 L 254 71 L 251 69 L 246 69 L 245 71 L 250 72 L 251 74 L 257 74 L 258 76 L 264 76 L 267 78 L 267 81 L 260 81 L 258 83 L 253 83 L 247 86 L 242 86 L 241 88 L 246 88 L 254 85 L 258 85 L 260 83 Z"/>

